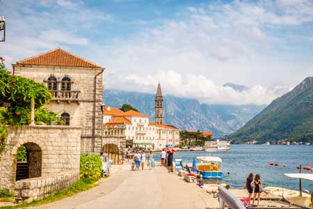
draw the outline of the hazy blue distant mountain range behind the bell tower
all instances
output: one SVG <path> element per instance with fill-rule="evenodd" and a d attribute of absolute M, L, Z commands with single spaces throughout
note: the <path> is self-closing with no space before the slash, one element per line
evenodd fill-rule
<path fill-rule="evenodd" d="M 104 103 L 111 107 L 131 104 L 154 120 L 154 94 L 106 89 Z M 181 130 L 212 131 L 214 137 L 222 137 L 239 129 L 264 106 L 200 104 L 198 100 L 164 95 L 164 121 Z"/>

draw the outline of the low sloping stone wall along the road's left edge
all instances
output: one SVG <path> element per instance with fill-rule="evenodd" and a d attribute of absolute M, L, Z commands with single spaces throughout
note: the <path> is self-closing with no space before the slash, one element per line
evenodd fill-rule
<path fill-rule="evenodd" d="M 79 171 L 58 173 L 56 176 L 28 178 L 15 183 L 15 202 L 30 203 L 35 199 L 66 189 L 79 180 Z"/>

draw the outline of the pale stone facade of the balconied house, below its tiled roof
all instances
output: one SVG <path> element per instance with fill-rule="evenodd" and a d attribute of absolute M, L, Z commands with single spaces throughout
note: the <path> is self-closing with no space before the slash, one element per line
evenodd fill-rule
<path fill-rule="evenodd" d="M 63 77 L 71 79 L 71 91 L 80 91 L 78 100 L 52 100 L 45 107 L 54 113 L 70 114 L 70 125 L 81 126 L 81 152 L 92 152 L 95 146 L 95 152 L 101 149 L 101 109 L 102 104 L 102 74 L 96 79 L 96 98 L 95 98 L 95 142 L 93 144 L 93 92 L 95 75 L 102 71 L 102 68 L 79 68 L 79 67 L 61 67 L 61 66 L 43 66 L 43 65 L 15 65 L 14 74 L 36 82 L 42 82 L 47 86 L 49 77 L 56 77 L 60 82 Z M 60 86 L 58 86 L 58 90 Z"/>

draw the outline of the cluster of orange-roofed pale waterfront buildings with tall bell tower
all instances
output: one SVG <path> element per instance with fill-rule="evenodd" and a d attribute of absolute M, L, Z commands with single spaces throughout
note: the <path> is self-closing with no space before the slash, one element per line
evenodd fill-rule
<path fill-rule="evenodd" d="M 156 95 L 156 119 L 153 123 L 149 117 L 138 111 L 121 111 L 117 107 L 104 108 L 104 139 L 118 141 L 123 147 L 131 144 L 146 148 L 161 149 L 166 144 L 179 146 L 179 129 L 163 122 L 163 96 L 161 86 L 158 85 Z M 157 112 L 159 116 L 157 116 Z M 161 112 L 161 113 L 160 113 Z"/>

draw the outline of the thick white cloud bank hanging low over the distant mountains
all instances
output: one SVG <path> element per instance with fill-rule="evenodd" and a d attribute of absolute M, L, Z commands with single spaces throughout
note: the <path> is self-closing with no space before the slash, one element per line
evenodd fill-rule
<path fill-rule="evenodd" d="M 124 82 L 116 83 L 115 80 Z M 246 91 L 235 91 L 230 87 L 223 87 L 203 75 L 186 74 L 182 75 L 175 71 L 162 71 L 156 75 L 119 75 L 113 80 L 108 80 L 108 85 L 116 88 L 127 89 L 127 91 L 141 91 L 145 93 L 155 93 L 156 84 L 161 81 L 163 92 L 198 99 L 200 102 L 209 104 L 268 104 L 281 94 L 277 94 L 279 88 L 268 89 L 256 85 Z M 285 93 L 285 92 L 284 92 Z"/>

